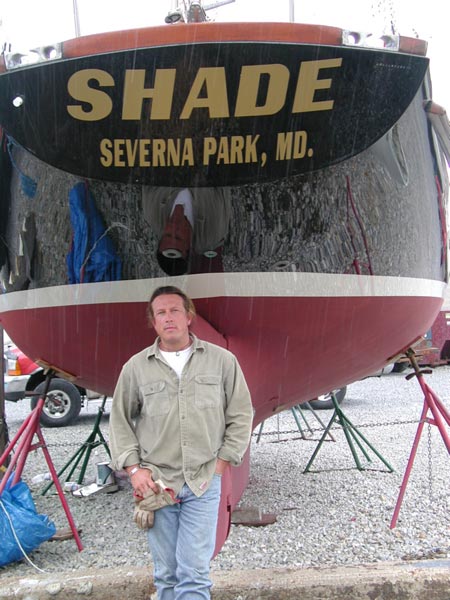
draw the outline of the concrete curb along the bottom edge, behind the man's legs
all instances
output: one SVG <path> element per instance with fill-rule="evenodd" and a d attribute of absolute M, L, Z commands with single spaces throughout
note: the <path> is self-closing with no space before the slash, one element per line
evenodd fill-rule
<path fill-rule="evenodd" d="M 213 575 L 213 600 L 448 600 L 450 561 L 321 569 L 251 569 Z M 0 598 L 150 600 L 147 569 L 104 569 L 2 582 Z"/>

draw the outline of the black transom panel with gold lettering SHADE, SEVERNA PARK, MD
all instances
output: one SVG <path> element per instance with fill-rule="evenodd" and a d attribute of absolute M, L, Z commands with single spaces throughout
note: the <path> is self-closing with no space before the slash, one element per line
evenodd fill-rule
<path fill-rule="evenodd" d="M 38 158 L 82 177 L 270 181 L 370 146 L 406 110 L 427 65 L 418 56 L 305 44 L 125 50 L 1 75 L 0 122 Z"/>

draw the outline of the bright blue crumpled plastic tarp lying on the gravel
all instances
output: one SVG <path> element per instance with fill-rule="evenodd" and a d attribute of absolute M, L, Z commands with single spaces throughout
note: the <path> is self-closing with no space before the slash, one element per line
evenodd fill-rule
<path fill-rule="evenodd" d="M 0 566 L 24 558 L 12 528 L 27 554 L 56 532 L 54 523 L 37 513 L 26 483 L 10 487 L 12 477 L 0 496 Z"/>

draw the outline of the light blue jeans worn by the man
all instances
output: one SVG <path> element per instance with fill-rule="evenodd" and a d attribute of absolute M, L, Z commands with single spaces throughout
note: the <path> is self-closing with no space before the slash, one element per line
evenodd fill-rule
<path fill-rule="evenodd" d="M 221 478 L 199 498 L 187 484 L 179 504 L 155 511 L 148 530 L 158 600 L 209 600 L 209 564 L 216 543 Z"/>

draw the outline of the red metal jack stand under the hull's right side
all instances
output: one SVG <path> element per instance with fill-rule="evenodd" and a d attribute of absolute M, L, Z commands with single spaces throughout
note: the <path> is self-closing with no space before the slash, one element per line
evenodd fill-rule
<path fill-rule="evenodd" d="M 394 514 L 392 516 L 390 528 L 394 529 L 397 524 L 398 514 L 400 512 L 400 508 L 403 501 L 403 496 L 405 495 L 406 486 L 408 485 L 409 476 L 411 474 L 411 470 L 414 464 L 414 459 L 417 453 L 417 447 L 419 445 L 420 436 L 422 435 L 422 431 L 425 423 L 429 423 L 430 425 L 436 425 L 439 429 L 439 433 L 444 441 L 444 444 L 447 447 L 447 451 L 450 454 L 450 437 L 445 429 L 445 423 L 450 426 L 450 414 L 447 409 L 443 405 L 442 401 L 436 396 L 433 390 L 425 383 L 423 375 L 426 373 L 431 373 L 431 370 L 421 371 L 419 365 L 417 364 L 414 350 L 409 348 L 406 352 L 406 356 L 409 358 L 411 362 L 411 366 L 414 369 L 414 373 L 411 373 L 407 376 L 407 379 L 411 379 L 411 377 L 417 377 L 420 387 L 422 388 L 424 394 L 424 402 L 422 415 L 420 417 L 419 426 L 417 427 L 416 436 L 414 438 L 413 446 L 411 448 L 411 454 L 409 456 L 408 464 L 406 466 L 406 471 L 403 476 L 403 482 L 400 487 L 400 494 L 397 499 L 397 504 L 395 505 Z M 428 411 L 431 410 L 432 417 L 428 417 Z"/>

